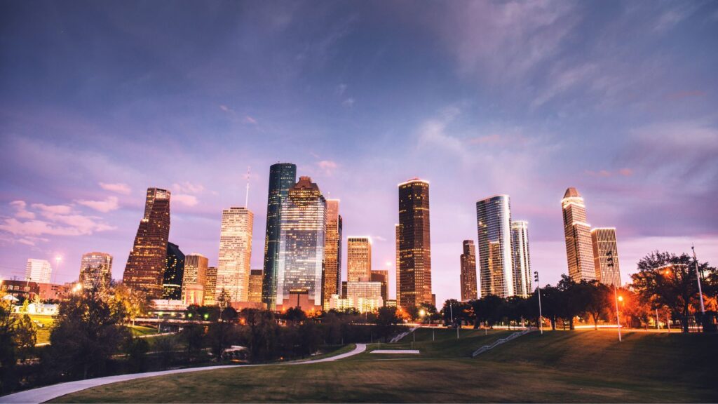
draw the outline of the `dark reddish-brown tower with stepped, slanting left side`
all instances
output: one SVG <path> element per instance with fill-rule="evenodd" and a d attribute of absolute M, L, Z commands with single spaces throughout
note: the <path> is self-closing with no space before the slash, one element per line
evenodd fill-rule
<path fill-rule="evenodd" d="M 169 238 L 169 190 L 147 188 L 144 216 L 127 259 L 122 283 L 146 294 L 162 297 L 162 280 Z"/>

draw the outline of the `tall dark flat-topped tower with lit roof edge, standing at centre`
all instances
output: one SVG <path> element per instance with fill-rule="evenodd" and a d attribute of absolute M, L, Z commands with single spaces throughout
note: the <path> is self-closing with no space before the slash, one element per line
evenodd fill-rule
<path fill-rule="evenodd" d="M 402 308 L 432 303 L 429 182 L 414 178 L 399 191 L 399 295 Z"/>

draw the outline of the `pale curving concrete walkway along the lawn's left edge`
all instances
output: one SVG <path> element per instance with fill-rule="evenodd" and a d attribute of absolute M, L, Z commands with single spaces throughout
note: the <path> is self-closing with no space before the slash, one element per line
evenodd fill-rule
<path fill-rule="evenodd" d="M 256 366 L 277 366 L 277 365 L 298 365 L 298 364 L 312 364 L 320 362 L 332 362 L 338 359 L 344 359 L 351 357 L 356 354 L 360 354 L 366 350 L 366 344 L 356 344 L 356 348 L 351 352 L 339 354 L 334 357 L 327 357 L 317 360 L 308 360 L 305 362 L 286 362 L 286 363 L 271 363 L 271 364 L 226 364 L 222 366 L 207 366 L 207 367 L 188 367 L 187 369 L 173 369 L 173 370 L 162 370 L 160 372 L 146 372 L 146 373 L 133 373 L 131 375 L 117 375 L 108 377 L 98 377 L 96 379 L 88 380 L 77 380 L 75 382 L 60 383 L 59 385 L 51 385 L 46 387 L 39 387 L 37 389 L 26 390 L 16 392 L 11 395 L 4 395 L 0 397 L 0 403 L 45 403 L 45 401 L 58 398 L 62 395 L 70 394 L 71 392 L 78 392 L 85 390 L 90 387 L 97 387 L 101 385 L 108 385 L 110 383 L 125 382 L 127 380 L 144 379 L 144 377 L 174 375 L 176 373 L 189 373 L 189 372 L 202 372 L 203 370 L 216 370 L 216 369 L 227 369 L 229 367 L 256 367 Z"/>

